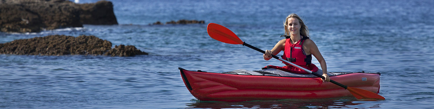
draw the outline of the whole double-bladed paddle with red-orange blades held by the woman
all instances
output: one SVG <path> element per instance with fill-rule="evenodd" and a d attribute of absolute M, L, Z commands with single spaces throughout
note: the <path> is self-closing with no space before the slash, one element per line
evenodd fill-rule
<path fill-rule="evenodd" d="M 235 33 L 233 33 L 231 30 L 229 30 L 226 27 L 221 26 L 219 24 L 216 24 L 216 23 L 208 24 L 207 32 L 208 32 L 208 35 L 210 35 L 210 37 L 213 38 L 214 40 L 218 40 L 220 42 L 229 43 L 229 44 L 242 44 L 243 46 L 247 46 L 247 47 L 254 49 L 256 51 L 259 51 L 261 53 L 265 53 L 265 51 L 260 50 L 259 48 L 256 48 L 254 46 L 251 46 L 251 45 L 247 44 L 246 42 L 241 41 L 240 38 L 238 38 L 238 36 Z M 321 76 L 317 73 L 312 73 L 312 71 L 305 69 L 301 66 L 298 66 L 294 63 L 291 63 L 285 59 L 279 58 L 278 56 L 274 56 L 274 55 L 272 55 L 272 56 L 275 59 L 278 59 L 278 60 L 283 61 L 285 63 L 289 63 L 292 66 L 295 66 L 299 69 L 303 69 L 304 71 L 306 71 L 310 74 L 313 74 L 313 75 L 318 76 L 322 79 L 325 79 L 324 76 Z M 330 79 L 330 82 L 347 89 L 357 99 L 380 99 L 380 100 L 385 99 L 383 96 L 380 96 L 380 95 L 378 95 L 374 92 L 368 91 L 368 90 L 358 89 L 358 88 L 354 88 L 354 87 L 348 87 L 348 86 L 345 86 L 341 83 L 333 81 L 331 79 Z"/>

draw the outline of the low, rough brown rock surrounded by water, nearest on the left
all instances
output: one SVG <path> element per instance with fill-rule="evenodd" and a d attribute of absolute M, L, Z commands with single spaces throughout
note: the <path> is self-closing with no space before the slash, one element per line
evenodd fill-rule
<path fill-rule="evenodd" d="M 95 36 L 51 35 L 0 43 L 0 54 L 135 56 L 148 53 L 135 46 L 119 45 L 112 48 L 111 42 Z"/>

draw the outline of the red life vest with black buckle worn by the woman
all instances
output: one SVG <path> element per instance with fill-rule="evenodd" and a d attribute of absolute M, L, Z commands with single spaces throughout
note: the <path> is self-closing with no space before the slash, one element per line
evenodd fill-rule
<path fill-rule="evenodd" d="M 286 39 L 285 50 L 283 51 L 282 58 L 299 66 L 307 66 L 311 64 L 312 54 L 306 56 L 306 53 L 303 50 L 303 43 L 306 39 L 309 39 L 309 37 L 304 36 L 294 44 L 291 44 L 291 39 Z M 285 64 L 289 65 L 288 63 Z"/>

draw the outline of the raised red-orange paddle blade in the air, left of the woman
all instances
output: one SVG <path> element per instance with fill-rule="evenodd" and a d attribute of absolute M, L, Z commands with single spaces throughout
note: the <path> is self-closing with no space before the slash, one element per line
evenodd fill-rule
<path fill-rule="evenodd" d="M 208 24 L 207 32 L 208 35 L 210 35 L 210 37 L 214 40 L 229 44 L 243 44 L 243 41 L 241 41 L 235 33 L 219 24 Z"/>

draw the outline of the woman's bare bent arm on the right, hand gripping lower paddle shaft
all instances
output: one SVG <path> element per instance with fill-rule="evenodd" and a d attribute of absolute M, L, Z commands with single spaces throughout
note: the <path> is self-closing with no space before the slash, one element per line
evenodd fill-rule
<path fill-rule="evenodd" d="M 306 47 L 309 48 L 309 52 L 318 60 L 322 69 L 322 76 L 325 77 L 325 81 L 329 82 L 330 77 L 327 75 L 327 64 L 325 63 L 324 57 L 322 57 L 321 53 L 319 52 L 318 46 L 316 46 L 315 42 L 310 39 L 307 39 L 304 43 L 306 43 Z"/>

